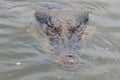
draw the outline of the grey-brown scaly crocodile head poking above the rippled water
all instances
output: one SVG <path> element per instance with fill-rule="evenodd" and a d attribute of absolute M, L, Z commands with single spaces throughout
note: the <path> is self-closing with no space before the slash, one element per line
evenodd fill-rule
<path fill-rule="evenodd" d="M 75 68 L 80 63 L 83 34 L 89 13 L 74 9 L 40 9 L 34 14 L 49 39 L 50 49 L 59 66 Z"/>

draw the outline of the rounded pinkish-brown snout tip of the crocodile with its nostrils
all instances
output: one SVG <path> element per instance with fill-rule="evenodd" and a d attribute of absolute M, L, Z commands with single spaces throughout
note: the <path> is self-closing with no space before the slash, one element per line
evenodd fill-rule
<path fill-rule="evenodd" d="M 77 54 L 59 54 L 57 64 L 62 68 L 77 68 L 80 63 L 80 56 Z"/>

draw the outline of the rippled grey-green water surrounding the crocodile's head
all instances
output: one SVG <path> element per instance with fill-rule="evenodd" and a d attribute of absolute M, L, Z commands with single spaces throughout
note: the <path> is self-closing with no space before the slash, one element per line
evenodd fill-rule
<path fill-rule="evenodd" d="M 53 63 L 34 12 L 60 3 L 90 12 L 87 45 L 78 69 Z M 119 0 L 0 0 L 0 80 L 120 80 Z M 42 34 L 42 36 L 41 36 Z"/>

